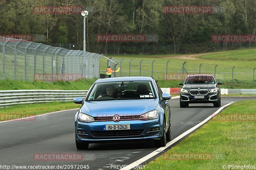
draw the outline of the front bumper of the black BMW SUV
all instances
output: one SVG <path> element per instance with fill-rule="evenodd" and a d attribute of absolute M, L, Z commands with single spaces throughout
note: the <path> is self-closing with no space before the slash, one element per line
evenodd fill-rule
<path fill-rule="evenodd" d="M 196 95 L 204 96 L 204 99 L 196 99 L 195 95 L 190 93 L 180 93 L 180 101 L 188 103 L 214 103 L 218 101 L 218 92 L 209 92 L 207 95 Z"/>

